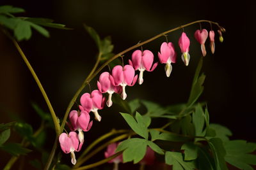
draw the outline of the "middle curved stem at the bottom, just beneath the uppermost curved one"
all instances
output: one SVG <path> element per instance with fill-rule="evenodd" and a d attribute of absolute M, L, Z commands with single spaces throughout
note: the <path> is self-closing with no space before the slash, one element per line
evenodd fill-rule
<path fill-rule="evenodd" d="M 103 145 L 101 145 L 98 148 L 96 148 L 95 150 L 93 150 L 91 153 L 89 153 L 86 157 L 81 159 L 79 162 L 77 161 L 76 166 L 74 166 L 74 167 L 81 166 L 81 164 L 83 164 L 86 160 L 90 159 L 91 157 L 93 157 L 93 155 L 95 155 L 96 153 L 98 153 L 101 150 L 103 150 L 104 148 L 106 148 L 106 146 L 108 146 L 109 144 L 114 143 L 116 141 L 120 141 L 122 139 L 125 139 L 125 138 L 129 137 L 130 135 L 131 134 L 122 134 L 114 139 L 109 140 L 107 143 L 104 143 Z"/>

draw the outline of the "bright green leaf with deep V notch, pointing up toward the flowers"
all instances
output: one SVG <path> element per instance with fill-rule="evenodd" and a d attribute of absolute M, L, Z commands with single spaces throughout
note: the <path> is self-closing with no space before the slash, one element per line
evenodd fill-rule
<path fill-rule="evenodd" d="M 136 120 L 129 115 L 128 113 L 121 113 L 122 117 L 124 117 L 127 124 L 131 127 L 131 129 L 136 132 L 136 134 L 142 136 L 145 139 L 148 139 L 148 130 L 147 130 L 147 122 L 140 115 L 140 113 L 136 113 Z M 137 121 L 137 122 L 136 122 Z"/>

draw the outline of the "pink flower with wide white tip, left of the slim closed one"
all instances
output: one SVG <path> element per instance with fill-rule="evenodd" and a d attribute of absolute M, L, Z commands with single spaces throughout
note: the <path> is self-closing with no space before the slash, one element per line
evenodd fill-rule
<path fill-rule="evenodd" d="M 160 53 L 161 52 L 161 53 Z M 158 57 L 160 62 L 166 64 L 164 69 L 166 72 L 166 76 L 169 77 L 172 73 L 172 62 L 176 62 L 176 52 L 174 50 L 173 43 L 162 43 L 160 52 L 158 52 Z"/>

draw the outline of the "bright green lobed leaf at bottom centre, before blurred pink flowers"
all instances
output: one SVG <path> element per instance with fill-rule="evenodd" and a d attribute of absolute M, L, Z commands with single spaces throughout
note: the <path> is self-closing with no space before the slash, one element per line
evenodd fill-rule
<path fill-rule="evenodd" d="M 122 141 L 117 146 L 116 152 L 123 152 L 124 162 L 130 162 L 133 160 L 134 164 L 140 162 L 143 159 L 147 150 L 147 140 L 140 138 L 131 138 Z"/>

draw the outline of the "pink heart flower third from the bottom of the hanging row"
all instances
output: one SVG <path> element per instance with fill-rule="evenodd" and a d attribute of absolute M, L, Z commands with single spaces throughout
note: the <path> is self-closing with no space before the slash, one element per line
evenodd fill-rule
<path fill-rule="evenodd" d="M 93 90 L 92 94 L 85 93 L 80 98 L 80 110 L 85 110 L 88 113 L 92 111 L 95 115 L 95 120 L 101 120 L 101 117 L 98 113 L 98 110 L 102 110 L 104 108 L 105 97 L 102 97 L 102 93 L 99 90 Z"/>

